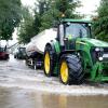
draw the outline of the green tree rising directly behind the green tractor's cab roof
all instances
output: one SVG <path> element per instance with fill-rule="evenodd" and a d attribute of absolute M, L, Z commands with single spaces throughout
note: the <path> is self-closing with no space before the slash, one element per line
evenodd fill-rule
<path fill-rule="evenodd" d="M 53 26 L 54 22 L 59 21 L 62 15 L 68 18 L 79 18 L 76 8 L 80 6 L 80 2 L 73 0 L 52 0 L 49 2 L 49 10 L 42 15 L 40 31 Z"/>

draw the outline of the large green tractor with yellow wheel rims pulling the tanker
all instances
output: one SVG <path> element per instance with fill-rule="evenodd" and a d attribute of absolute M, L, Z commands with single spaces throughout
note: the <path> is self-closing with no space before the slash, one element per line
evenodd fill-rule
<path fill-rule="evenodd" d="M 63 19 L 56 39 L 45 45 L 44 73 L 64 84 L 108 81 L 108 43 L 92 38 L 91 22 Z"/>

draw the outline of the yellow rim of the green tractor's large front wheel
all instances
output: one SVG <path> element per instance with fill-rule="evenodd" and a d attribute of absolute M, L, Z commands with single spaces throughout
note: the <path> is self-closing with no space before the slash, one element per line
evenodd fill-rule
<path fill-rule="evenodd" d="M 62 77 L 62 81 L 64 83 L 66 83 L 68 81 L 68 66 L 67 66 L 67 63 L 66 62 L 63 62 L 62 63 L 62 66 L 60 66 L 60 77 Z"/>

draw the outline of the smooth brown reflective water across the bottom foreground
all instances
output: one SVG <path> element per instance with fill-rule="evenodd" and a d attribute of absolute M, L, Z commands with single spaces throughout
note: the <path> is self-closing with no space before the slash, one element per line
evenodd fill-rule
<path fill-rule="evenodd" d="M 108 96 L 70 96 L 0 87 L 0 108 L 108 108 Z"/>

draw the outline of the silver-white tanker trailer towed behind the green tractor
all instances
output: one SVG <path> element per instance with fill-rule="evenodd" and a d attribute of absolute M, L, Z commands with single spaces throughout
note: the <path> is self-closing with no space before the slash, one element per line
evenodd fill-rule
<path fill-rule="evenodd" d="M 51 28 L 31 38 L 26 45 L 26 65 L 35 69 L 42 68 L 44 46 L 48 42 L 54 40 L 56 35 L 57 31 Z"/>

